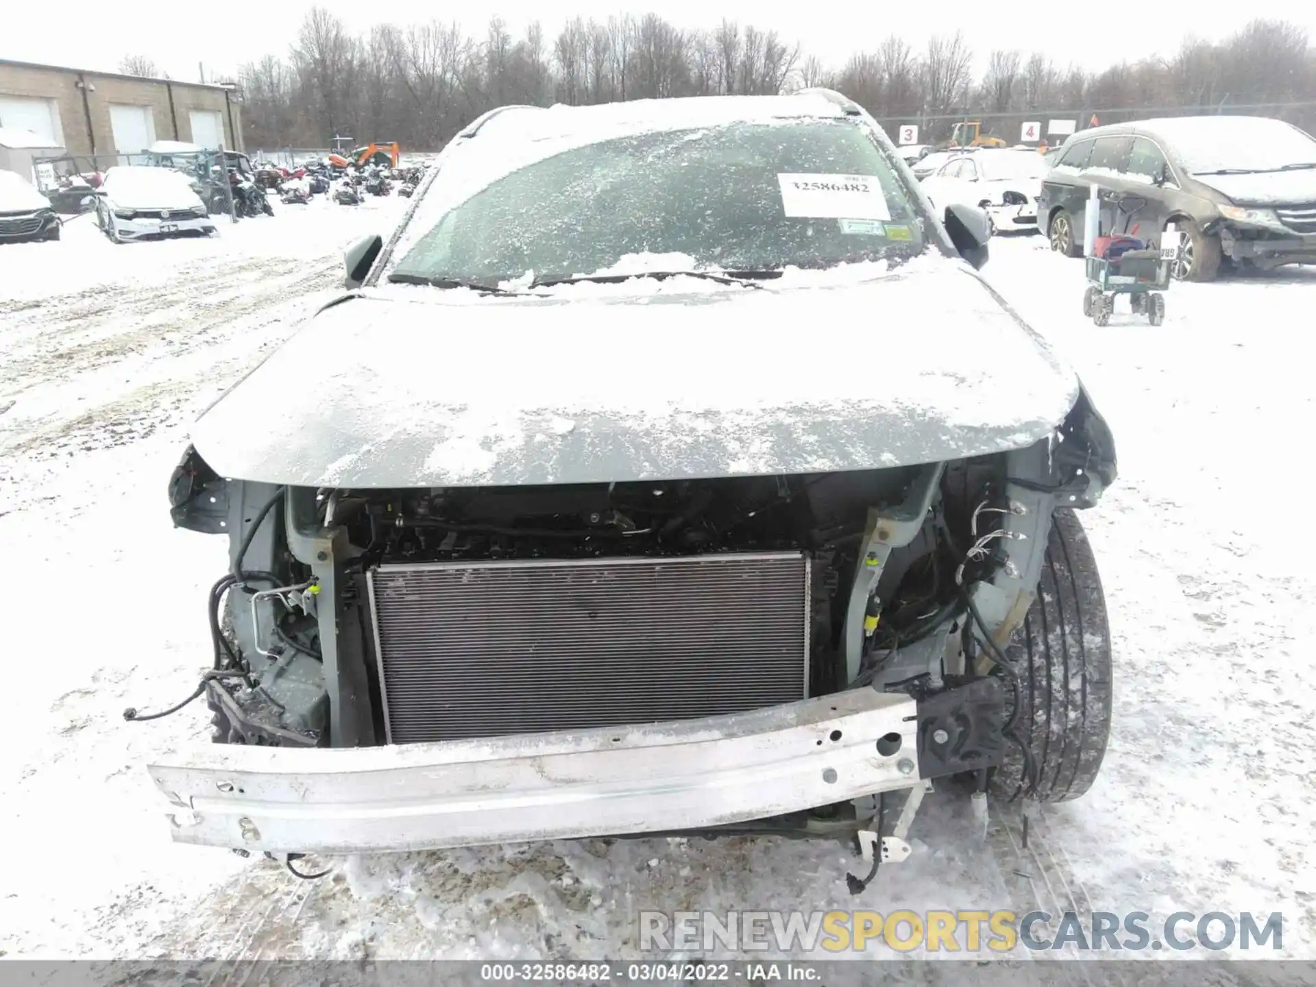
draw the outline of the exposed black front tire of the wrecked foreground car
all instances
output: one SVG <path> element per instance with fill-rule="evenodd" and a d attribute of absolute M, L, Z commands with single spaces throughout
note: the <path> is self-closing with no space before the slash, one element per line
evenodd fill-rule
<path fill-rule="evenodd" d="M 992 772 L 1000 801 L 1067 801 L 1092 787 L 1111 734 L 1111 626 L 1092 547 L 1078 516 L 1059 508 L 1042 562 L 1037 599 L 1005 649 L 1020 679 L 1015 733 L 1034 765 L 1030 784 L 1019 744 Z"/>

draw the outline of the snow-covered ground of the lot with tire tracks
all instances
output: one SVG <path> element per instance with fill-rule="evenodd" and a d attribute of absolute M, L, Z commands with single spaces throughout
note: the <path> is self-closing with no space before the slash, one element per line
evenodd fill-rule
<path fill-rule="evenodd" d="M 1098 329 L 1082 265 L 1040 237 L 995 241 L 987 272 L 1115 430 L 1120 482 L 1083 521 L 1119 678 L 1098 786 L 1034 816 L 1026 850 L 1016 816 L 984 836 L 949 791 L 861 899 L 828 842 L 334 859 L 316 883 L 172 845 L 142 763 L 207 744 L 205 717 L 121 712 L 192 688 L 225 551 L 171 528 L 166 479 L 196 413 L 334 287 L 341 246 L 404 207 L 286 207 L 130 246 L 82 218 L 0 247 L 0 955 L 616 958 L 637 954 L 641 908 L 1041 907 L 1279 911 L 1283 955 L 1316 958 L 1316 534 L 1298 509 L 1316 271 L 1177 286 L 1161 328 Z M 251 428 L 279 415 L 253 408 Z"/>

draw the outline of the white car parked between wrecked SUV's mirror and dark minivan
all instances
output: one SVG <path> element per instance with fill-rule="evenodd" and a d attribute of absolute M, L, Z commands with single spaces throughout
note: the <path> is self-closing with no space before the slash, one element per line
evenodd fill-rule
<path fill-rule="evenodd" d="M 951 158 L 921 184 L 938 209 L 976 205 L 987 211 L 996 230 L 1037 229 L 1046 168 L 1036 150 L 979 147 Z"/>

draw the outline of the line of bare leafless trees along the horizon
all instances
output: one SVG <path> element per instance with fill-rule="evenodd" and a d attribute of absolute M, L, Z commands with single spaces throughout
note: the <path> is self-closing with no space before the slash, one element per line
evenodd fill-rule
<path fill-rule="evenodd" d="M 1244 107 L 1238 112 L 1282 116 L 1308 130 L 1316 124 L 1316 50 L 1304 29 L 1286 21 L 1255 20 L 1221 42 L 1188 38 L 1171 55 L 1095 72 L 1019 50 L 990 51 L 980 76 L 974 64 L 962 33 L 936 36 L 917 49 L 892 34 L 829 67 L 775 30 L 732 21 L 687 30 L 657 13 L 576 17 L 547 37 L 538 24 L 513 36 L 495 16 L 483 37 L 438 21 L 353 34 L 312 8 L 288 54 L 242 66 L 238 84 L 249 149 L 326 147 L 341 136 L 437 150 L 476 116 L 508 103 L 759 95 L 809 86 L 840 89 L 883 122 L 921 121 L 925 139 L 973 114 L 990 118 L 988 132 L 995 126 L 1009 136 L 1011 114 L 1024 120 L 1042 111 L 1101 112 L 1100 122 L 1115 122 L 1142 109 Z M 1312 105 L 1283 105 L 1304 103 Z"/>

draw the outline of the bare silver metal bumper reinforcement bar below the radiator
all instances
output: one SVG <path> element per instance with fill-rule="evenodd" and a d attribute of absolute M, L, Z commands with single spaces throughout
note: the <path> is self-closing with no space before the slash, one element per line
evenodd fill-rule
<path fill-rule="evenodd" d="M 921 780 L 919 709 L 853 690 L 732 716 L 380 747 L 216 745 L 150 767 L 174 840 L 422 850 L 682 830 Z"/>

